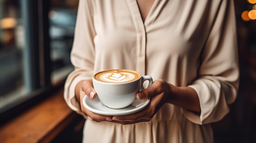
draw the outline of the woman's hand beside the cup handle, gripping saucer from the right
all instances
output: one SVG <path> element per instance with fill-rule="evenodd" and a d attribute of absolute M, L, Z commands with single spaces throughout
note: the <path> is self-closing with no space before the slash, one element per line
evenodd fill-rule
<path fill-rule="evenodd" d="M 136 98 L 139 100 L 150 97 L 151 101 L 145 109 L 129 115 L 113 116 L 110 122 L 126 125 L 150 121 L 164 103 L 167 103 L 171 99 L 175 88 L 175 86 L 168 84 L 162 79 L 155 80 L 150 87 L 136 94 Z"/>

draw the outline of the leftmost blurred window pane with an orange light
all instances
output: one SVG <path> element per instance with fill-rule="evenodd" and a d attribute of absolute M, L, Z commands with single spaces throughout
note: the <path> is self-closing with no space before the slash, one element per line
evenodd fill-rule
<path fill-rule="evenodd" d="M 31 92 L 19 0 L 0 1 L 0 109 Z"/>

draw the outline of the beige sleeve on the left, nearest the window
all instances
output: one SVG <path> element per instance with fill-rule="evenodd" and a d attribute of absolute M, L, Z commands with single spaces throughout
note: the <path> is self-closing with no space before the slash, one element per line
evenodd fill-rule
<path fill-rule="evenodd" d="M 95 35 L 92 4 L 90 0 L 79 0 L 74 43 L 71 51 L 71 62 L 75 70 L 70 73 L 65 82 L 64 98 L 72 110 L 84 117 L 86 115 L 81 112 L 80 103 L 75 97 L 75 87 L 80 81 L 92 78 Z"/>

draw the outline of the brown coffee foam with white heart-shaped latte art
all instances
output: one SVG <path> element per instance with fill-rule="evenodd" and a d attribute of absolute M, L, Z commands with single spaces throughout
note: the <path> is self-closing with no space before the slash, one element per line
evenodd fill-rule
<path fill-rule="evenodd" d="M 105 70 L 95 74 L 94 79 L 108 83 L 129 82 L 141 77 L 140 73 L 133 70 Z"/>

